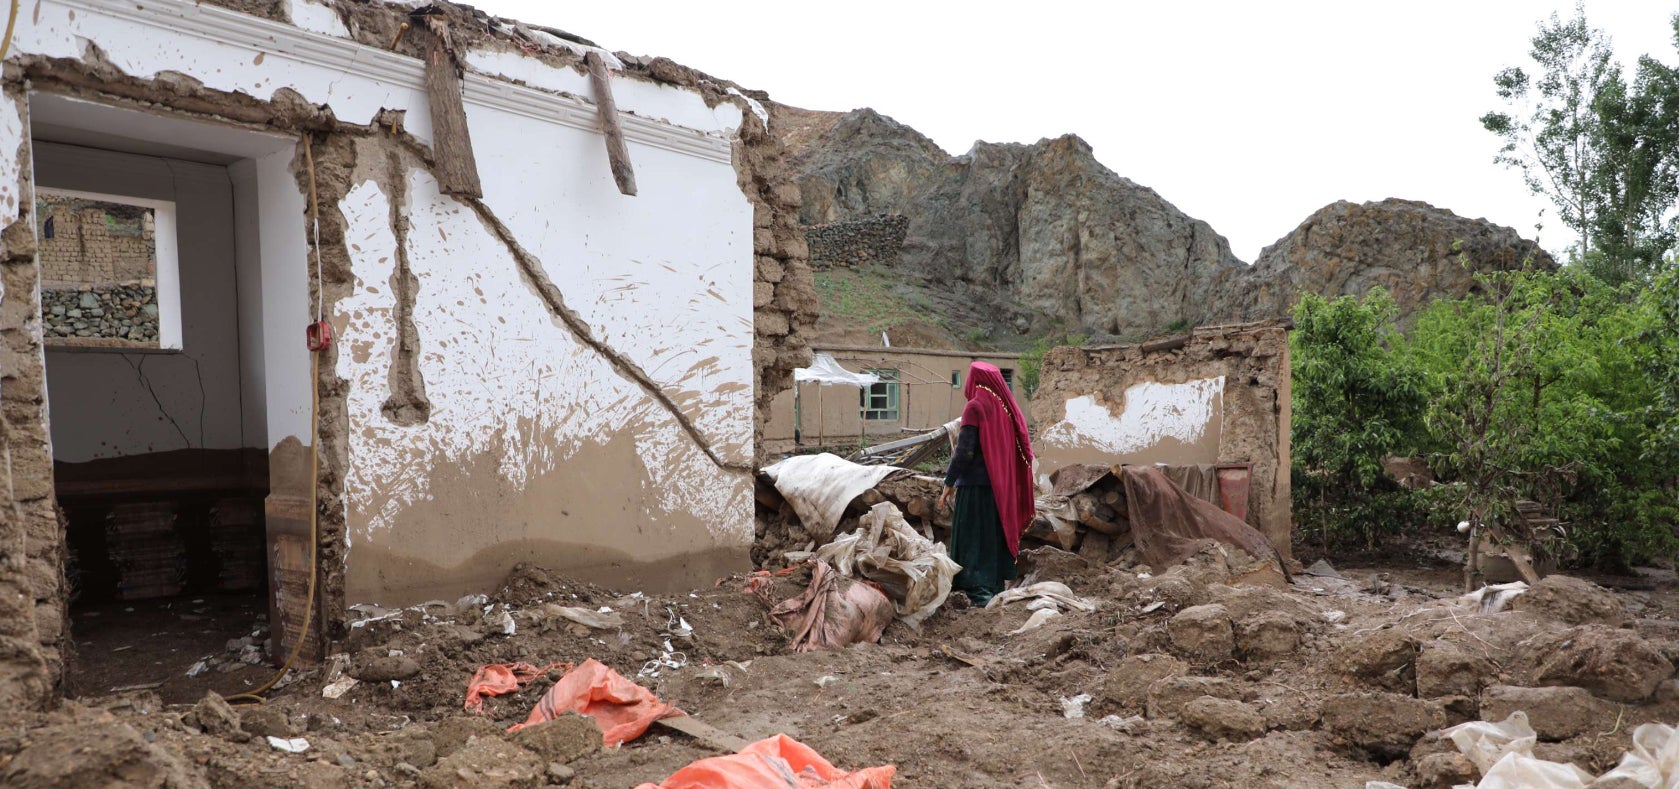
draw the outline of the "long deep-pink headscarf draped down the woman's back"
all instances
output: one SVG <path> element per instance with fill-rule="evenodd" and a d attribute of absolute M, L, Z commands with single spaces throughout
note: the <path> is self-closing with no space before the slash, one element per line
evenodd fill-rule
<path fill-rule="evenodd" d="M 1009 554 L 1021 552 L 1021 534 L 1033 522 L 1033 442 L 1026 435 L 1026 415 L 996 364 L 975 361 L 967 368 L 967 406 L 962 426 L 979 428 L 979 452 L 991 475 L 991 495 L 997 500 L 1002 536 Z"/>

